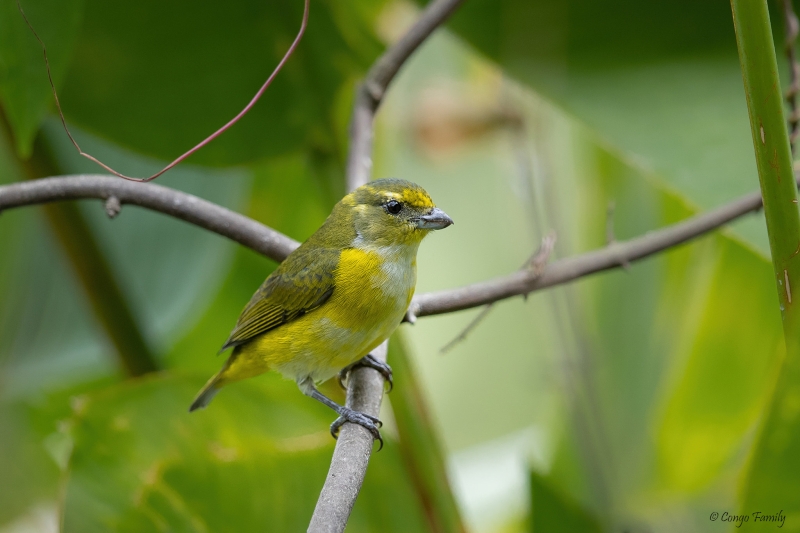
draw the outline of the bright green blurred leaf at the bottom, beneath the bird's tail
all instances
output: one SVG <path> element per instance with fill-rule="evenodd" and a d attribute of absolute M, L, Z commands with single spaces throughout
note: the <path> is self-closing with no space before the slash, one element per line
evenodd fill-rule
<path fill-rule="evenodd" d="M 272 375 L 190 414 L 202 383 L 161 376 L 75 402 L 65 532 L 306 526 L 333 449 L 331 411 Z M 424 530 L 391 442 L 370 465 L 348 530 Z"/>

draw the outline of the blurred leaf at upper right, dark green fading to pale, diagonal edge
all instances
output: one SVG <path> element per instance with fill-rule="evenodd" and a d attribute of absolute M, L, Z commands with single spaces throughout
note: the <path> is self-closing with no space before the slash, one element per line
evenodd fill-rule
<path fill-rule="evenodd" d="M 727 3 L 476 0 L 452 27 L 691 204 L 756 187 Z M 737 231 L 767 250 L 761 224 Z"/>

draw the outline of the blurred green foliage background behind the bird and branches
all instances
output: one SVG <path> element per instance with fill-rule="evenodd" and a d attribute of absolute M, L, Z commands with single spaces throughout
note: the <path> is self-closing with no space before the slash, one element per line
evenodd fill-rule
<path fill-rule="evenodd" d="M 299 0 L 22 4 L 81 146 L 137 176 L 241 109 L 302 13 Z M 158 182 L 305 239 L 345 192 L 356 84 L 419 8 L 313 0 L 254 111 Z M 0 102 L 0 183 L 97 172 L 53 114 L 14 0 L 0 0 Z M 758 187 L 724 2 L 466 0 L 403 68 L 376 127 L 374 176 L 420 183 L 456 221 L 421 247 L 418 292 L 511 272 L 549 231 L 556 257 L 602 247 L 610 205 L 622 240 Z M 110 221 L 100 202 L 76 205 L 0 217 L 0 532 L 303 530 L 331 412 L 274 375 L 186 412 L 275 263 L 136 207 Z M 77 241 L 56 231 L 80 221 Z M 122 371 L 75 254 L 107 265 L 158 372 Z M 731 531 L 711 513 L 755 511 L 800 531 L 786 488 L 800 462 L 765 484 L 763 508 L 740 501 L 783 353 L 770 268 L 750 215 L 502 302 L 445 354 L 478 310 L 403 325 L 390 357 L 410 365 L 348 531 L 456 530 L 430 517 L 448 487 L 420 479 L 437 468 L 473 532 Z M 406 418 L 420 410 L 421 430 Z"/>

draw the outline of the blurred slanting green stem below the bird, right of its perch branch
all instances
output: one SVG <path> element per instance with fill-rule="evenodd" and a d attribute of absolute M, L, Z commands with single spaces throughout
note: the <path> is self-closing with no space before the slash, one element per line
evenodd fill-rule
<path fill-rule="evenodd" d="M 445 458 L 430 420 L 414 365 L 402 336 L 389 342 L 397 388 L 392 392 L 392 411 L 400 434 L 400 453 L 414 482 L 430 530 L 435 533 L 463 533 L 453 492 L 445 471 Z"/>

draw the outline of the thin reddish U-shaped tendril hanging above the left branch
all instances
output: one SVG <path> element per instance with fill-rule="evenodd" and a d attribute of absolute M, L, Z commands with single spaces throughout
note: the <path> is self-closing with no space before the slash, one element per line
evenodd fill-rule
<path fill-rule="evenodd" d="M 261 86 L 261 88 L 258 90 L 256 95 L 250 100 L 250 102 L 248 102 L 248 104 L 246 106 L 244 106 L 244 109 L 239 111 L 239 113 L 235 117 L 230 119 L 228 122 L 225 123 L 224 126 L 222 126 L 217 131 L 215 131 L 214 133 L 212 133 L 211 135 L 206 137 L 203 141 L 198 143 L 194 148 L 190 149 L 188 152 L 186 152 L 182 156 L 178 157 L 172 163 L 170 163 L 169 165 L 167 165 L 166 167 L 164 167 L 163 169 L 161 169 L 160 171 L 156 172 L 155 174 L 153 174 L 152 176 L 150 176 L 148 178 L 133 178 L 133 177 L 130 177 L 130 176 L 126 176 L 124 174 L 120 174 L 119 172 L 117 172 L 113 168 L 109 167 L 108 165 L 106 165 L 102 161 L 98 160 L 97 158 L 95 158 L 91 154 L 87 154 L 86 152 L 81 150 L 81 147 L 78 146 L 78 141 L 75 140 L 75 138 L 72 136 L 72 133 L 70 133 L 69 128 L 67 127 L 67 120 L 64 118 L 64 112 L 61 111 L 61 103 L 58 101 L 58 94 L 56 92 L 56 85 L 55 85 L 55 83 L 53 83 L 53 76 L 50 73 L 50 61 L 47 59 L 47 48 L 44 45 L 44 41 L 42 41 L 42 39 L 39 38 L 39 34 L 36 33 L 36 30 L 33 29 L 33 25 L 28 20 L 28 16 L 25 14 L 25 11 L 22 10 L 22 6 L 20 5 L 19 0 L 17 0 L 17 9 L 19 9 L 19 12 L 22 15 L 22 18 L 25 20 L 25 24 L 28 25 L 28 28 L 30 28 L 31 32 L 33 33 L 33 36 L 36 37 L 36 40 L 39 41 L 39 44 L 42 47 L 42 55 L 44 56 L 44 64 L 45 64 L 45 67 L 47 68 L 47 79 L 50 82 L 50 89 L 53 91 L 53 99 L 56 102 L 56 109 L 58 110 L 58 116 L 61 118 L 61 124 L 62 124 L 62 126 L 64 126 L 64 131 L 67 132 L 67 137 L 69 137 L 69 140 L 72 142 L 72 145 L 78 151 L 78 154 L 80 154 L 83 157 L 85 157 L 86 159 L 88 159 L 90 161 L 93 161 L 94 163 L 100 165 L 105 170 L 107 170 L 111 174 L 114 174 L 117 177 L 123 178 L 123 179 L 128 180 L 128 181 L 147 182 L 147 181 L 152 181 L 152 180 L 156 179 L 157 177 L 159 177 L 160 175 L 162 175 L 166 171 L 168 171 L 171 168 L 175 167 L 176 165 L 180 164 L 181 162 L 186 160 L 189 156 L 191 156 L 192 154 L 194 154 L 195 152 L 197 152 L 198 150 L 203 148 L 205 145 L 207 145 L 208 143 L 210 143 L 211 141 L 213 141 L 214 139 L 216 139 L 217 137 L 222 135 L 228 128 L 230 128 L 231 126 L 233 126 L 234 124 L 239 122 L 239 119 L 241 119 L 243 116 L 245 116 L 253 108 L 253 106 L 256 105 L 256 102 L 258 102 L 258 100 L 261 98 L 261 96 L 267 90 L 267 87 L 269 87 L 272 84 L 272 80 L 275 79 L 275 76 L 277 76 L 278 72 L 281 71 L 281 69 L 283 68 L 283 65 L 286 64 L 286 61 L 288 61 L 289 57 L 291 57 L 292 53 L 294 53 L 295 48 L 297 48 L 297 45 L 300 43 L 300 39 L 303 38 L 303 34 L 305 33 L 306 26 L 308 24 L 308 3 L 309 3 L 309 0 L 305 0 L 305 4 L 304 4 L 304 7 L 303 7 L 303 20 L 300 23 L 300 31 L 297 32 L 297 37 L 294 38 L 294 41 L 292 42 L 291 46 L 289 46 L 289 49 L 286 51 L 286 53 L 284 54 L 283 58 L 278 63 L 278 66 L 275 67 L 275 70 L 273 70 L 272 74 L 270 74 L 269 78 L 267 78 L 267 81 L 264 82 L 264 85 Z"/>

